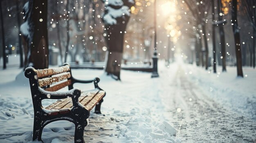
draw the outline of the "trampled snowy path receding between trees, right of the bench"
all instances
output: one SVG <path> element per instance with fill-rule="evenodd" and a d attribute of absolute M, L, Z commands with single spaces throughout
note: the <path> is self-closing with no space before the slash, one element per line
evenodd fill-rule
<path fill-rule="evenodd" d="M 165 115 L 178 129 L 178 138 L 186 143 L 256 141 L 255 120 L 247 119 L 210 99 L 184 73 L 184 67 L 178 66 L 173 81 L 162 81 L 162 87 L 166 88 L 163 90 L 168 91 L 162 97 L 166 112 L 169 112 Z M 168 77 L 167 73 L 162 76 Z"/>

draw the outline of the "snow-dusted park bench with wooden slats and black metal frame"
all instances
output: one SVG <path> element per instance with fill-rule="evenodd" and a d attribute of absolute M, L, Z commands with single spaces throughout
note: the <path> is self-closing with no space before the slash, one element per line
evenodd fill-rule
<path fill-rule="evenodd" d="M 99 88 L 99 78 L 79 80 L 72 77 L 69 64 L 58 68 L 36 70 L 28 67 L 25 77 L 29 78 L 31 96 L 34 107 L 33 141 L 42 141 L 41 136 L 45 125 L 58 120 L 67 120 L 75 125 L 74 142 L 85 143 L 84 128 L 95 106 L 95 113 L 101 114 L 101 103 L 106 92 Z M 73 88 L 74 83 L 94 83 L 94 90 L 81 92 Z M 58 91 L 68 86 L 68 91 Z M 62 99 L 43 108 L 43 99 Z"/>

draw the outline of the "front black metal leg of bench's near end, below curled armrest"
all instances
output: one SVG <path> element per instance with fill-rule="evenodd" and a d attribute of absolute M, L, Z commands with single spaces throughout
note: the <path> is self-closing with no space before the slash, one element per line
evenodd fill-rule
<path fill-rule="evenodd" d="M 86 123 L 86 125 L 87 125 L 87 123 Z M 83 132 L 84 132 L 84 128 L 86 125 L 82 121 L 80 121 L 80 123 L 76 123 L 74 143 L 85 143 L 85 141 L 83 139 Z"/>

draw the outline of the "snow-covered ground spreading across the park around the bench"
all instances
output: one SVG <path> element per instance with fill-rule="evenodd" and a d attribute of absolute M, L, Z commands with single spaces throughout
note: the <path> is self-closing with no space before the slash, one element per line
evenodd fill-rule
<path fill-rule="evenodd" d="M 33 106 L 29 81 L 21 71 L 17 66 L 0 70 L 0 143 L 32 142 Z M 150 73 L 125 70 L 122 81 L 102 70 L 73 69 L 72 73 L 79 79 L 100 77 L 99 86 L 107 93 L 101 106 L 105 116 L 91 112 L 84 132 L 87 142 L 256 141 L 256 70 L 252 68 L 244 68 L 247 77 L 243 79 L 236 78 L 234 67 L 213 74 L 181 61 L 168 68 L 159 62 L 160 77 L 154 79 Z M 76 87 L 88 90 L 93 85 Z M 43 106 L 50 102 L 43 101 Z M 44 143 L 72 143 L 74 125 L 50 123 L 42 139 Z"/>

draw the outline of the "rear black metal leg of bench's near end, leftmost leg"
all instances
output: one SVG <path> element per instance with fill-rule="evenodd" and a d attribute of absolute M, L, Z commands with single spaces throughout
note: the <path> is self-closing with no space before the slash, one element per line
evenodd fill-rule
<path fill-rule="evenodd" d="M 33 141 L 42 141 L 43 123 L 34 119 Z"/>

